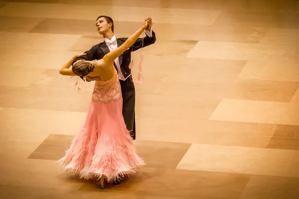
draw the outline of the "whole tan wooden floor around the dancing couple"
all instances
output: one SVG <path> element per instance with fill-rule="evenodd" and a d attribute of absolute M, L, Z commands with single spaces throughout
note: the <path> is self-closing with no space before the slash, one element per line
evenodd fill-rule
<path fill-rule="evenodd" d="M 84 122 L 93 83 L 59 75 L 152 17 L 136 84 L 147 166 L 100 190 L 56 162 Z M 139 53 L 133 53 L 137 75 Z M 0 0 L 1 199 L 298 199 L 298 0 Z"/>

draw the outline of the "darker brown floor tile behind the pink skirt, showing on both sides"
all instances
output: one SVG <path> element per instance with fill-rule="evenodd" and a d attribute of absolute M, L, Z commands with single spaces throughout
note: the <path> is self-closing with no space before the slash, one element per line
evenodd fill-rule
<path fill-rule="evenodd" d="M 57 161 L 64 156 L 73 138 L 72 135 L 50 134 L 28 158 Z M 191 144 L 136 140 L 134 145 L 147 167 L 174 169 Z"/>

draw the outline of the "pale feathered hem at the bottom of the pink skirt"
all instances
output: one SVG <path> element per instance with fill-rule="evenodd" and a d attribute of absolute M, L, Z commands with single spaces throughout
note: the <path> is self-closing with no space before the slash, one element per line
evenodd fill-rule
<path fill-rule="evenodd" d="M 88 140 L 87 134 L 82 127 L 65 156 L 57 161 L 62 165 L 63 171 L 70 172 L 74 177 L 84 180 L 100 180 L 104 177 L 107 182 L 113 182 L 136 174 L 138 167 L 146 165 L 137 155 L 129 131 L 122 134 L 121 138 L 115 131 L 109 137 L 104 136 L 107 133 L 102 133 L 96 144 Z"/>

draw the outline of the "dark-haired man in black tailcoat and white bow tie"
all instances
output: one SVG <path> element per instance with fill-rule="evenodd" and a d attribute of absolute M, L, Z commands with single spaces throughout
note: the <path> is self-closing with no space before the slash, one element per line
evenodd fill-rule
<path fill-rule="evenodd" d="M 135 86 L 129 65 L 131 63 L 131 52 L 136 51 L 142 47 L 153 44 L 156 40 L 155 33 L 151 30 L 151 18 L 146 18 L 149 26 L 147 28 L 146 37 L 139 38 L 127 51 L 119 56 L 114 61 L 114 67 L 118 71 L 119 80 L 122 87 L 123 95 L 123 116 L 130 131 L 131 137 L 136 139 L 136 124 L 135 124 Z M 128 38 L 116 38 L 114 35 L 114 23 L 109 16 L 99 16 L 97 18 L 96 26 L 98 32 L 103 35 L 104 42 L 93 46 L 90 50 L 86 51 L 87 55 L 78 57 L 73 64 L 78 60 L 99 60 L 105 54 L 121 46 Z"/>

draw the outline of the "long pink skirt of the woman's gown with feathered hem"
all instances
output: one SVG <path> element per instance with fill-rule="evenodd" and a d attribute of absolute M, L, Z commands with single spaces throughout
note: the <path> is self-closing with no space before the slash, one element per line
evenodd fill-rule
<path fill-rule="evenodd" d="M 134 174 L 145 162 L 137 155 L 123 114 L 123 99 L 109 103 L 91 100 L 86 120 L 59 160 L 64 170 L 81 179 L 112 182 Z"/>

